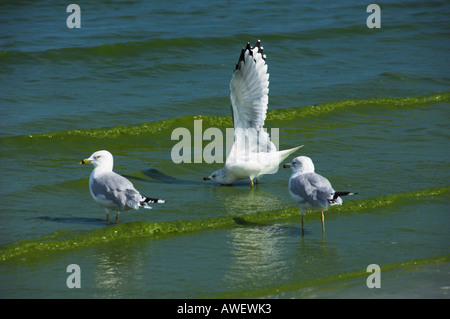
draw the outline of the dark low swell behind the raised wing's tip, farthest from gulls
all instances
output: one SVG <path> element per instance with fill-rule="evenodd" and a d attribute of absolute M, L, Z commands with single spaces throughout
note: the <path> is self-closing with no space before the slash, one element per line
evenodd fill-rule
<path fill-rule="evenodd" d="M 405 27 L 411 28 L 410 24 Z M 199 35 L 192 37 L 154 37 L 144 38 L 142 34 L 124 33 L 115 34 L 111 40 L 105 39 L 103 44 L 98 44 L 98 39 L 88 39 L 83 44 L 73 47 L 56 47 L 52 43 L 52 47 L 42 49 L 40 51 L 20 51 L 20 50 L 3 50 L 0 51 L 0 65 L 10 63 L 35 63 L 36 61 L 96 61 L 98 58 L 134 58 L 138 55 L 155 56 L 158 59 L 161 56 L 167 56 L 168 52 L 191 52 L 195 54 L 199 50 L 207 51 L 223 51 L 222 48 L 235 46 L 243 46 L 247 41 L 255 42 L 261 39 L 263 42 L 282 43 L 288 42 L 289 46 L 286 50 L 290 50 L 293 43 L 305 43 L 307 41 L 317 41 L 320 39 L 336 39 L 339 36 L 367 36 L 367 27 L 365 24 L 354 23 L 345 27 L 337 27 L 333 25 L 320 25 L 308 27 L 305 29 L 291 32 L 275 32 L 275 33 L 231 33 L 226 35 Z M 110 41 L 110 43 L 108 43 Z M 105 43 L 106 42 L 106 43 Z M 280 44 L 281 42 L 281 44 Z M 308 54 L 308 46 L 300 46 L 303 54 Z M 233 51 L 234 52 L 234 51 Z M 314 51 L 314 54 L 318 52 Z"/>

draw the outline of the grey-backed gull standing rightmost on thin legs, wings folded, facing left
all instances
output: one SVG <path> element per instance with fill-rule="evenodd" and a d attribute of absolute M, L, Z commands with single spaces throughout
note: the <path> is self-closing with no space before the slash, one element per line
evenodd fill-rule
<path fill-rule="evenodd" d="M 323 212 L 328 209 L 328 206 L 342 205 L 342 198 L 339 196 L 358 193 L 336 192 L 328 179 L 314 172 L 314 164 L 309 157 L 298 156 L 291 163 L 283 165 L 283 168 L 288 167 L 292 168 L 292 175 L 289 179 L 289 194 L 300 206 L 302 234 L 304 234 L 303 216 L 306 209 L 310 207 L 322 211 L 322 233 L 325 233 Z"/>

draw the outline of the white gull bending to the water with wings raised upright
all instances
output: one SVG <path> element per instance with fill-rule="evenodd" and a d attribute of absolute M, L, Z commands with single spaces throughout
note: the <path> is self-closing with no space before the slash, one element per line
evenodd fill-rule
<path fill-rule="evenodd" d="M 290 154 L 301 146 L 277 151 L 264 129 L 269 102 L 269 73 L 266 55 L 258 40 L 254 47 L 242 48 L 230 82 L 231 114 L 234 143 L 223 168 L 203 180 L 229 185 L 237 180 L 250 179 L 258 183 L 265 174 L 274 174 Z"/>

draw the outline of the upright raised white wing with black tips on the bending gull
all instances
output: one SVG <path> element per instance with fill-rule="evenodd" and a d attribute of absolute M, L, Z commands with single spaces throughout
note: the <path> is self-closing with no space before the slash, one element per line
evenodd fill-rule
<path fill-rule="evenodd" d="M 234 129 L 264 126 L 269 103 L 269 73 L 261 42 L 254 47 L 247 44 L 230 82 L 231 111 Z"/>

